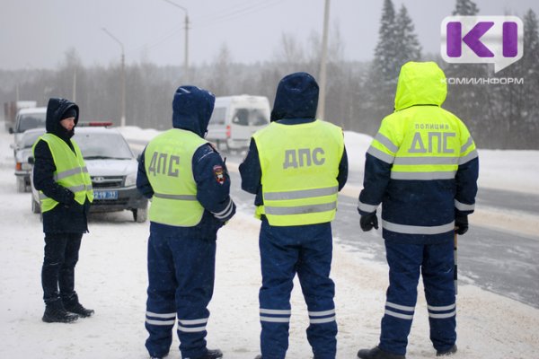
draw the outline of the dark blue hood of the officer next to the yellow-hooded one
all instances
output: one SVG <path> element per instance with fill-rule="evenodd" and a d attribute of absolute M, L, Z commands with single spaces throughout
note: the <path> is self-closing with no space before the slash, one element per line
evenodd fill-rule
<path fill-rule="evenodd" d="M 285 76 L 277 87 L 271 121 L 282 118 L 315 118 L 318 107 L 318 83 L 307 73 Z"/>

